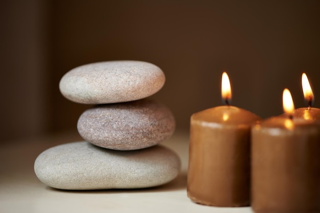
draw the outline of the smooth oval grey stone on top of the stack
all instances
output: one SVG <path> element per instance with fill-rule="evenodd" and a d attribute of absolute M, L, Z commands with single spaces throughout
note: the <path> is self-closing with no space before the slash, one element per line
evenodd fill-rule
<path fill-rule="evenodd" d="M 68 71 L 59 84 L 64 97 L 78 103 L 102 104 L 139 100 L 165 84 L 163 71 L 141 61 L 86 64 Z"/>

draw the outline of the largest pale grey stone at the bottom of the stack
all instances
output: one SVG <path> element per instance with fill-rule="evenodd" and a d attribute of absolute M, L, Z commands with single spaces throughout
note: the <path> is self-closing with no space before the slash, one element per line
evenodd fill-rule
<path fill-rule="evenodd" d="M 40 181 L 56 189 L 138 189 L 173 180 L 180 171 L 180 159 L 159 145 L 116 151 L 74 142 L 43 151 L 34 171 Z"/>

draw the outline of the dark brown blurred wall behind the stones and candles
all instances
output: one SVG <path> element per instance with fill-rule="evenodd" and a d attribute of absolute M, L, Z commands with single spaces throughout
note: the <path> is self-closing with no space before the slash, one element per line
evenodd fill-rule
<path fill-rule="evenodd" d="M 193 113 L 222 104 L 223 71 L 232 105 L 263 118 L 282 114 L 286 87 L 304 107 L 303 72 L 320 107 L 319 8 L 319 1 L 1 1 L 0 141 L 76 131 L 90 106 L 62 97 L 60 78 L 100 61 L 162 68 L 166 84 L 153 98 L 172 110 L 178 130 L 189 130 Z"/>

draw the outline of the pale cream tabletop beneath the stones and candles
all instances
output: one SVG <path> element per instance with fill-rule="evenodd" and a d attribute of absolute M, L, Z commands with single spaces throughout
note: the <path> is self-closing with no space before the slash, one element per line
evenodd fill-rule
<path fill-rule="evenodd" d="M 182 161 L 179 176 L 161 187 L 138 190 L 62 191 L 47 187 L 34 174 L 43 150 L 80 141 L 77 134 L 5 143 L 0 149 L 0 212 L 252 212 L 250 207 L 212 207 L 187 197 L 188 133 L 176 132 L 162 144 Z"/>

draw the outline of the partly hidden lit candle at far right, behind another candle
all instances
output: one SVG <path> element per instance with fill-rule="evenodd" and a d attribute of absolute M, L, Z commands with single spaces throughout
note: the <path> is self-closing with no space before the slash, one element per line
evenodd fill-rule
<path fill-rule="evenodd" d="M 305 100 L 308 102 L 308 107 L 296 109 L 293 112 L 293 116 L 306 120 L 320 121 L 320 109 L 312 107 L 314 96 L 306 73 L 302 74 L 301 82 Z"/>

